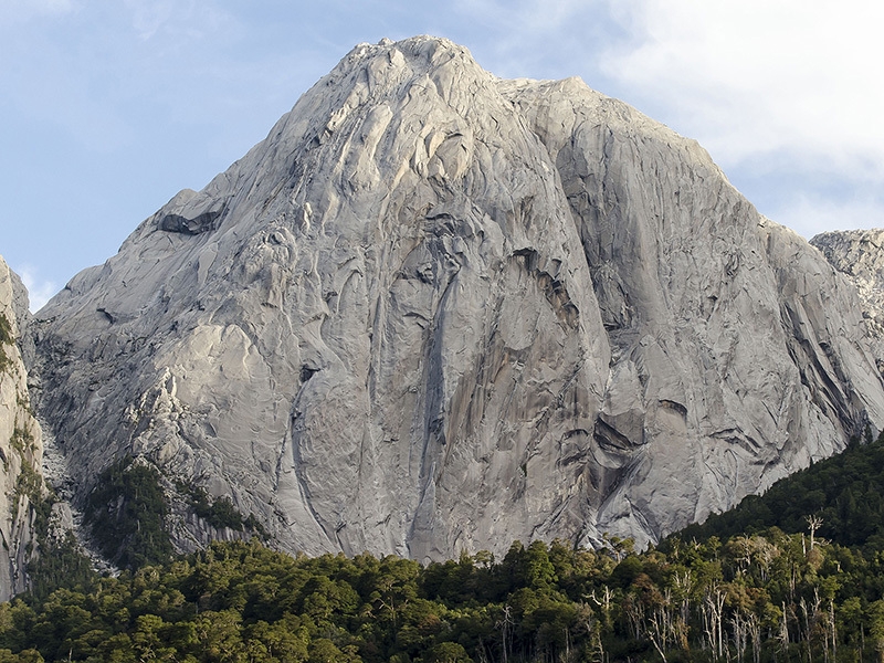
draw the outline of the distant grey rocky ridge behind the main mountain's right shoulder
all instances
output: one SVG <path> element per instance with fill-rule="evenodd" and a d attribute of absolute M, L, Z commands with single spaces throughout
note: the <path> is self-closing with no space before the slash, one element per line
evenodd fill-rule
<path fill-rule="evenodd" d="M 884 230 L 824 232 L 810 243 L 853 282 L 867 325 L 877 338 L 884 339 Z M 884 359 L 881 355 L 878 358 Z"/>

